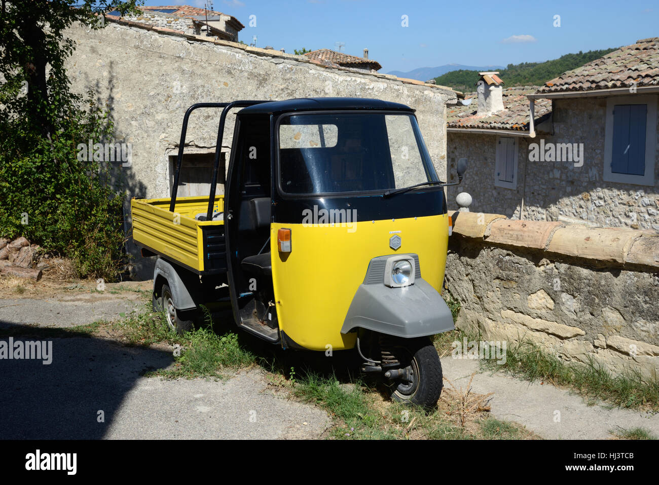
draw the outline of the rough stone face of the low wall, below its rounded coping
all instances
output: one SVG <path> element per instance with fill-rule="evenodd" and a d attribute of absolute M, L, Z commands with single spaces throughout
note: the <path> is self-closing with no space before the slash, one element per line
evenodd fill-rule
<path fill-rule="evenodd" d="M 550 261 L 451 237 L 446 281 L 458 328 L 488 341 L 530 339 L 563 360 L 659 373 L 659 276 Z M 632 355 L 636 353 L 637 355 Z"/>

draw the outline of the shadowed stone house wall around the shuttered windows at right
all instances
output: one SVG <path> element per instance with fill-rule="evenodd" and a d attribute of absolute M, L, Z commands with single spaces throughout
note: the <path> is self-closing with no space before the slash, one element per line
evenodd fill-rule
<path fill-rule="evenodd" d="M 524 196 L 524 219 L 574 219 L 606 227 L 659 230 L 659 162 L 654 167 L 654 187 L 602 180 L 605 115 L 606 98 L 554 101 L 554 134 L 518 138 L 517 190 L 494 186 L 496 135 L 448 133 L 449 173 L 455 171 L 460 157 L 470 160 L 463 185 L 449 188 L 449 206 L 455 207 L 455 195 L 465 190 L 474 199 L 470 210 L 519 219 Z M 545 143 L 583 143 L 583 167 L 570 162 L 528 161 L 529 143 L 539 144 L 542 138 Z M 659 150 L 659 142 L 657 147 Z"/>

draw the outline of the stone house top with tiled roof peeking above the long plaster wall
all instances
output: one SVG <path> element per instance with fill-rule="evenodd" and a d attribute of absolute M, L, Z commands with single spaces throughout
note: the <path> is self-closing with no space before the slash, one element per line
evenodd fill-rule
<path fill-rule="evenodd" d="M 171 29 L 183 34 L 212 36 L 229 42 L 238 42 L 238 32 L 244 25 L 231 15 L 212 10 L 190 7 L 190 5 L 159 5 L 138 7 L 142 11 L 139 15 L 120 17 L 122 20 L 136 22 L 148 26 L 158 27 L 161 30 Z M 118 17 L 118 12 L 109 15 Z"/>

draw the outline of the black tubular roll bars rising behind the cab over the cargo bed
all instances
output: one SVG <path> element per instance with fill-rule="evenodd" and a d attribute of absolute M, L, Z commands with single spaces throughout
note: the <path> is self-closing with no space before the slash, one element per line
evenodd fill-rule
<path fill-rule="evenodd" d="M 183 162 L 183 148 L 185 147 L 185 135 L 188 131 L 188 119 L 190 113 L 198 108 L 223 108 L 219 118 L 219 127 L 217 128 L 217 144 L 215 145 L 215 161 L 213 164 L 213 178 L 210 183 L 210 197 L 208 198 L 208 211 L 206 220 L 213 219 L 213 206 L 215 205 L 215 189 L 217 186 L 217 172 L 219 171 L 219 159 L 222 151 L 222 136 L 224 134 L 224 123 L 227 119 L 229 109 L 233 107 L 246 107 L 255 104 L 265 103 L 266 101 L 232 101 L 231 103 L 196 103 L 190 106 L 183 117 L 183 127 L 181 128 L 181 142 L 179 143 L 179 156 L 177 157 L 176 173 L 174 175 L 174 185 L 171 188 L 171 201 L 169 202 L 169 212 L 174 212 L 176 208 L 176 196 L 179 191 L 179 177 L 181 177 L 181 163 Z"/>

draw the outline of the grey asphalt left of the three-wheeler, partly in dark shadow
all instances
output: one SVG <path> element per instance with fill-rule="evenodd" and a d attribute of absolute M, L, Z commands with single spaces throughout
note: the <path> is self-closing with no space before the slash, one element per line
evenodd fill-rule
<path fill-rule="evenodd" d="M 134 292 L 0 300 L 0 329 L 52 346 L 50 364 L 0 358 L 0 439 L 320 438 L 329 427 L 324 411 L 277 391 L 261 369 L 228 380 L 147 378 L 173 364 L 171 351 L 38 336 L 40 327 L 121 318 L 143 301 Z"/>

